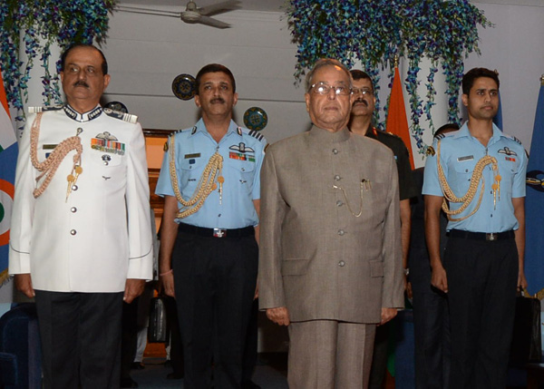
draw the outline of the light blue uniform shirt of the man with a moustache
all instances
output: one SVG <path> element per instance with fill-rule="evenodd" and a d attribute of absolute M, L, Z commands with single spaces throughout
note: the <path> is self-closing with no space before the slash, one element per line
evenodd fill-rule
<path fill-rule="evenodd" d="M 219 143 L 206 130 L 202 119 L 192 129 L 172 135 L 175 144 L 176 172 L 183 199 L 190 199 L 210 157 L 219 151 L 223 157 L 223 195 L 213 190 L 202 208 L 177 223 L 208 229 L 241 229 L 258 224 L 254 199 L 260 199 L 260 169 L 267 141 L 256 131 L 238 127 L 230 121 L 227 133 Z M 164 153 L 155 193 L 175 196 L 170 180 L 170 151 Z M 178 207 L 181 208 L 180 202 Z"/>

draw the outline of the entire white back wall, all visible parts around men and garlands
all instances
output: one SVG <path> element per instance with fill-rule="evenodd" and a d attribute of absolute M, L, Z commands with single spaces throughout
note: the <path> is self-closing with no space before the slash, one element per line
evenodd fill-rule
<path fill-rule="evenodd" d="M 518 137 L 529 150 L 539 76 L 544 73 L 540 43 L 544 7 L 476 5 L 496 26 L 480 29 L 481 56 L 472 53 L 465 68 L 484 66 L 499 71 L 505 131 Z M 173 95 L 172 80 L 180 73 L 196 75 L 206 63 L 223 63 L 237 80 L 238 123 L 243 124 L 248 107 L 257 105 L 268 114 L 267 128 L 262 131 L 268 141 L 305 131 L 309 120 L 304 91 L 293 84 L 296 45 L 290 43 L 284 15 L 234 11 L 220 15 L 220 19 L 233 27 L 219 30 L 170 17 L 115 13 L 104 47 L 112 73 L 106 100 L 124 102 L 130 112 L 140 116 L 144 128 L 189 127 L 199 112 L 193 100 L 184 102 Z M 426 76 L 424 70 L 422 76 Z M 384 102 L 386 83 L 382 88 Z M 437 90 L 441 89 L 445 90 L 438 85 Z M 433 109 L 433 117 L 435 127 L 439 127 L 446 117 L 446 99 L 442 98 L 442 104 L 441 96 L 436 100 L 439 104 Z M 430 133 L 425 141 L 431 141 Z M 423 159 L 417 159 L 416 165 L 423 165 Z"/>

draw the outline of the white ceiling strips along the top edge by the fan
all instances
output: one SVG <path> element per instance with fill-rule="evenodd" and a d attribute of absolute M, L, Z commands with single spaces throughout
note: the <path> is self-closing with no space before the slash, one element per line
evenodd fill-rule
<path fill-rule="evenodd" d="M 222 0 L 195 0 L 199 7 L 219 3 Z M 121 5 L 159 5 L 161 7 L 185 8 L 189 0 L 120 0 Z M 504 4 L 504 5 L 533 5 L 544 6 L 544 0 L 471 0 L 472 3 Z M 276 11 L 283 12 L 282 7 L 288 0 L 240 0 L 240 9 L 248 11 Z"/>

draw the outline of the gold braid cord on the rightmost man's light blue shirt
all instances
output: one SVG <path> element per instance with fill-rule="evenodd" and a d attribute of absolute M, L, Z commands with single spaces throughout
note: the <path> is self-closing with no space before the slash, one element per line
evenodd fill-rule
<path fill-rule="evenodd" d="M 497 164 L 497 159 L 495 157 L 491 157 L 490 155 L 486 155 L 481 158 L 481 160 L 476 163 L 476 166 L 474 167 L 474 171 L 472 172 L 471 177 L 471 186 L 469 187 L 469 190 L 465 193 L 465 195 L 461 198 L 458 198 L 453 193 L 452 189 L 450 188 L 450 185 L 448 184 L 448 181 L 446 180 L 446 177 L 444 175 L 444 171 L 442 170 L 442 165 L 440 163 L 440 142 L 438 141 L 436 146 L 436 164 L 438 167 L 438 180 L 440 181 L 440 185 L 442 187 L 442 192 L 444 194 L 444 199 L 442 201 L 442 210 L 448 215 L 448 219 L 452 221 L 461 221 L 464 219 L 470 218 L 478 209 L 480 209 L 481 205 L 481 199 L 483 197 L 483 189 L 485 186 L 485 180 L 483 178 L 483 169 L 489 165 L 492 164 L 493 173 L 495 175 L 495 183 L 492 185 L 493 189 L 493 198 L 496 199 L 497 192 L 500 193 L 500 175 L 499 173 L 499 165 Z M 471 204 L 471 201 L 476 196 L 476 191 L 478 190 L 478 184 L 481 180 L 481 189 L 480 189 L 480 197 L 478 198 L 478 204 L 476 204 L 476 207 L 472 209 L 471 213 L 469 215 L 463 216 L 462 218 L 452 218 L 452 215 L 459 215 L 463 210 L 467 209 L 467 207 Z M 450 210 L 448 207 L 448 201 L 450 202 L 461 202 L 461 207 L 459 209 Z"/>

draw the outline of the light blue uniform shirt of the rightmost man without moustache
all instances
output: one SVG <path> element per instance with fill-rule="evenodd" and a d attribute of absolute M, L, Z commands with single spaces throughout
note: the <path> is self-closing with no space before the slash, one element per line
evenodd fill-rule
<path fill-rule="evenodd" d="M 436 151 L 437 141 L 432 147 Z M 485 155 L 497 159 L 499 165 L 500 197 L 497 193 L 496 206 L 493 206 L 493 191 L 491 185 L 494 175 L 491 163 L 482 172 L 485 180 L 483 198 L 480 209 L 471 217 L 461 221 L 448 222 L 447 229 L 461 229 L 471 232 L 502 232 L 518 229 L 518 220 L 514 216 L 512 198 L 525 197 L 525 173 L 527 170 L 527 156 L 519 141 L 503 134 L 493 124 L 493 136 L 487 147 L 471 135 L 465 123 L 459 131 L 447 134 L 441 140 L 440 162 L 444 175 L 456 197 L 465 195 L 471 185 L 472 171 Z M 438 180 L 437 154 L 429 155 L 425 163 L 423 180 L 423 194 L 443 196 L 440 181 Z M 478 204 L 481 192 L 481 181 L 471 205 L 453 218 L 459 219 L 469 215 Z M 450 209 L 459 209 L 461 203 L 450 203 Z"/>

